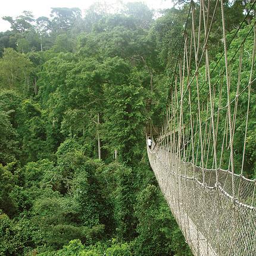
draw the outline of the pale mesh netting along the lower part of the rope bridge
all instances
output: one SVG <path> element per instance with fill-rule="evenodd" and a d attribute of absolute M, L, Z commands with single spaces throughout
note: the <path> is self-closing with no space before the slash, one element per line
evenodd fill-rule
<path fill-rule="evenodd" d="M 215 170 L 205 171 L 192 164 L 178 163 L 164 150 L 148 149 L 149 162 L 169 207 L 194 255 L 256 255 L 255 182 L 236 175 L 236 199 L 232 201 L 232 173 L 220 170 L 219 184 Z M 167 160 L 168 158 L 168 160 Z M 168 161 L 170 164 L 167 164 Z M 181 166 L 181 173 L 177 174 Z M 187 175 L 185 176 L 185 169 Z M 189 170 L 189 171 L 188 171 Z M 197 246 L 199 244 L 199 246 Z"/>

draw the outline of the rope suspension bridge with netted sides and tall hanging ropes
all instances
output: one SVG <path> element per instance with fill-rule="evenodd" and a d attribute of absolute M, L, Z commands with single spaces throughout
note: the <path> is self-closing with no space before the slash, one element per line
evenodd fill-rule
<path fill-rule="evenodd" d="M 251 10 L 227 40 L 223 0 L 191 2 L 166 118 L 148 147 L 194 255 L 256 255 L 256 180 L 246 171 L 256 135 L 256 26 L 243 26 Z M 220 32 L 223 54 L 213 58 L 209 40 Z"/>

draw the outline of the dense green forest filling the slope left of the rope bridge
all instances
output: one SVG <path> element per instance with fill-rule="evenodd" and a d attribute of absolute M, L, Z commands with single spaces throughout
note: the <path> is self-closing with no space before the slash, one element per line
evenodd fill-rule
<path fill-rule="evenodd" d="M 239 2 L 226 4 L 230 33 Z M 141 3 L 102 10 L 4 17 L 0 255 L 191 255 L 145 150 L 146 124 L 164 117 L 188 5 L 155 19 Z M 221 38 L 211 40 L 218 56 Z"/>

